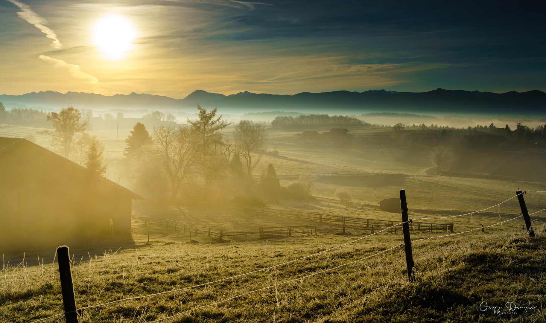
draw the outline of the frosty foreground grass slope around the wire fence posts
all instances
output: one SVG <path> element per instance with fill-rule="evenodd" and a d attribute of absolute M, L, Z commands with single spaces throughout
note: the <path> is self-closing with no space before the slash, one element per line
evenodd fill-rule
<path fill-rule="evenodd" d="M 477 232 L 414 243 L 416 283 L 407 282 L 403 249 L 396 247 L 352 265 L 235 298 L 170 321 L 544 320 L 546 316 L 541 304 L 545 301 L 545 236 L 540 233 L 538 237 L 529 239 L 517 228 L 511 230 L 505 226 L 505 229 L 504 232 L 490 230 L 483 234 Z M 147 234 L 152 236 L 150 246 L 146 246 Z M 412 239 L 430 236 L 423 232 L 413 235 Z M 311 255 L 357 237 L 246 237 L 223 243 L 203 236 L 193 238 L 199 243 L 189 243 L 188 235 L 166 231 L 159 226 L 135 226 L 135 243 L 131 248 L 71 248 L 78 307 L 228 278 Z M 401 235 L 380 234 L 293 264 L 203 288 L 86 310 L 80 322 L 149 322 L 328 270 L 401 242 Z M 34 255 L 27 256 L 19 266 L 9 266 L 2 271 L 2 321 L 31 322 L 62 313 L 57 264 L 51 263 L 54 255 L 51 251 L 42 255 L 46 256 L 44 265 L 32 261 L 36 258 Z M 481 312 L 476 306 L 481 301 L 490 306 L 500 306 L 508 301 L 525 306 L 530 302 L 538 308 L 525 314 L 520 310 L 518 314 L 497 315 L 490 311 Z M 64 318 L 52 321 L 62 322 Z"/>

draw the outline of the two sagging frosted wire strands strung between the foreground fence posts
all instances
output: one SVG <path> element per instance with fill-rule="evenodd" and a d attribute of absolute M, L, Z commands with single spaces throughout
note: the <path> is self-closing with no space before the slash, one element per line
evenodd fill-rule
<path fill-rule="evenodd" d="M 539 191 L 527 191 L 527 192 L 537 192 L 537 193 L 546 193 L 546 192 L 539 192 Z M 518 193 L 517 195 L 515 196 L 512 196 L 512 198 L 506 200 L 506 201 L 503 201 L 499 204 L 496 204 L 494 206 L 491 206 L 491 207 L 488 207 L 488 208 L 485 208 L 483 210 L 480 210 L 480 211 L 475 211 L 475 212 L 470 212 L 470 213 L 465 213 L 465 214 L 460 214 L 459 216 L 454 216 L 454 217 L 462 217 L 462 216 L 467 216 L 469 214 L 474 214 L 474 213 L 478 213 L 478 212 L 482 212 L 482 211 L 485 211 L 485 210 L 488 210 L 492 207 L 498 207 L 506 202 L 508 202 L 509 200 L 512 200 L 513 198 L 517 197 L 518 195 L 521 195 L 523 196 L 523 194 L 525 194 L 525 192 L 521 192 L 521 193 Z M 523 198 L 522 198 L 523 200 Z M 405 193 L 404 193 L 404 200 L 403 200 L 403 204 L 402 204 L 402 216 L 403 216 L 403 212 L 405 210 L 406 212 L 406 216 L 407 216 L 407 208 L 404 208 L 404 205 L 405 205 Z M 520 200 L 520 205 L 521 205 L 521 200 Z M 517 217 L 514 217 L 514 218 L 511 218 L 511 219 L 508 219 L 508 220 L 505 220 L 505 221 L 502 221 L 502 222 L 498 222 L 498 223 L 495 223 L 495 224 L 492 224 L 492 225 L 489 225 L 489 226 L 483 226 L 482 227 L 478 227 L 478 228 L 474 228 L 474 229 L 471 229 L 471 230 L 467 230 L 467 231 L 462 231 L 462 232 L 456 232 L 454 234 L 449 234 L 449 235 L 442 235 L 442 236 L 432 236 L 432 237 L 428 237 L 428 238 L 422 238 L 422 239 L 419 239 L 419 240 L 414 240 L 414 241 L 411 241 L 410 240 L 405 240 L 406 243 L 410 243 L 410 253 L 411 253 L 411 243 L 416 243 L 416 242 L 422 242 L 422 241 L 426 241 L 426 240 L 430 240 L 430 239 L 433 239 L 433 238 L 442 238 L 442 237 L 449 237 L 449 236 L 456 236 L 456 235 L 461 235 L 461 234 L 467 234 L 467 233 L 470 233 L 470 232 L 473 232 L 473 231 L 477 231 L 477 230 L 480 230 L 482 229 L 482 231 L 485 229 L 485 228 L 491 228 L 492 226 L 496 226 L 496 225 L 502 225 L 503 223 L 506 223 L 506 222 L 509 222 L 509 221 L 512 221 L 512 220 L 515 220 L 515 219 L 518 219 L 518 218 L 521 218 L 521 217 L 524 217 L 525 220 L 529 220 L 529 216 L 532 215 L 532 214 L 536 214 L 536 213 L 539 213 L 539 212 L 543 212 L 543 211 L 546 211 L 546 208 L 543 209 L 543 210 L 540 210 L 540 211 L 537 211 L 537 212 L 534 212 L 534 213 L 531 213 L 531 214 L 528 214 L 527 213 L 527 209 L 525 207 L 525 202 L 523 203 L 523 205 L 521 206 L 521 209 L 522 209 L 522 213 L 520 216 L 517 216 Z M 446 218 L 446 217 L 438 217 L 438 218 L 427 218 L 427 219 L 443 219 L 443 218 Z M 449 218 L 452 218 L 452 217 L 449 217 Z M 139 220 L 143 220 L 143 218 L 138 218 Z M 156 219 L 156 218 L 144 218 L 144 221 L 145 223 L 147 224 L 149 220 L 152 220 L 152 222 L 150 223 L 161 223 L 161 224 L 165 224 L 165 226 L 169 226 L 169 221 L 173 222 L 174 225 L 185 225 L 183 223 L 180 223 L 180 222 L 174 222 L 172 220 L 167 220 L 167 222 L 163 222 L 164 219 Z M 527 230 L 528 231 L 532 231 L 532 223 L 533 222 L 530 222 L 530 224 L 527 225 Z M 219 279 L 219 280 L 215 280 L 213 282 L 208 282 L 208 283 L 204 283 L 204 284 L 199 284 L 199 285 L 193 285 L 193 286 L 187 286 L 185 288 L 181 288 L 181 289 L 174 289 L 174 290 L 170 290 L 170 291 L 164 291 L 164 292 L 159 292 L 159 293 L 155 293 L 155 294 L 149 294 L 149 295 L 143 295 L 143 296 L 135 296 L 135 297 L 128 297 L 128 298 L 122 298 L 121 300 L 115 300 L 115 301 L 111 301 L 111 302 L 106 302 L 106 303 L 101 303 L 101 304 L 94 304 L 94 305 L 91 305 L 91 306 L 87 306 L 87 307 L 81 307 L 79 309 L 76 309 L 75 311 L 72 310 L 72 311 L 68 311 L 66 313 L 62 313 L 62 314 L 57 314 L 57 315 L 54 315 L 54 316 L 49 316 L 48 318 L 43 318 L 43 319 L 39 319 L 39 320 L 36 320 L 36 321 L 33 321 L 32 323 L 37 323 L 37 322 L 41 322 L 41 321 L 45 321 L 45 320 L 49 320 L 49 319 L 52 319 L 52 318 L 56 318 L 58 316 L 62 316 L 62 315 L 67 315 L 69 313 L 74 313 L 76 312 L 79 316 L 82 315 L 82 313 L 85 311 L 85 310 L 88 310 L 88 309 L 92 309 L 92 308 L 98 308 L 98 307 L 104 307 L 104 306 L 108 306 L 108 305 L 111 305 L 111 304 L 115 304 L 115 303 L 119 303 L 119 302 L 126 302 L 126 301 L 132 301 L 132 300 L 139 300 L 139 299 L 142 299 L 142 298 L 147 298 L 147 297 L 153 297 L 153 296 L 158 296 L 158 295 L 164 295 L 164 294 L 171 294 L 171 293 L 174 293 L 174 292 L 179 292 L 179 291 L 183 291 L 183 290 L 188 290 L 188 289 L 194 289 L 194 288 L 200 288 L 200 287 L 204 287 L 204 286 L 207 286 L 207 285 L 211 285 L 211 284 L 216 284 L 216 283 L 221 283 L 221 282 L 224 282 L 226 280 L 231 280 L 231 279 L 235 279 L 235 278 L 239 278 L 239 277 L 244 277 L 244 276 L 248 276 L 250 274 L 254 274 L 254 273 L 258 273 L 258 272 L 263 272 L 263 271 L 268 271 L 268 270 L 272 270 L 274 268 L 277 268 L 277 267 L 280 267 L 280 266 L 285 266 L 285 265 L 289 265 L 289 264 L 293 264 L 294 262 L 297 262 L 297 261 L 301 261 L 301 260 L 305 260 L 305 259 L 309 259 L 309 258 L 312 258 L 314 256 L 318 256 L 318 255 L 321 255 L 321 254 L 324 254 L 324 253 L 327 253 L 327 252 L 331 252 L 332 250 L 335 250 L 335 249 L 339 249 L 339 248 L 342 248 L 342 247 L 345 247 L 345 246 L 348 246 L 349 244 L 353 244 L 355 242 L 358 242 L 358 241 L 361 241 L 361 240 L 364 240 L 365 238 L 367 237 L 370 237 L 370 236 L 373 236 L 373 235 L 377 235 L 381 232 L 388 232 L 389 230 L 393 230 L 393 228 L 396 228 L 397 226 L 400 226 L 402 225 L 403 228 L 402 230 L 406 230 L 406 232 L 404 232 L 405 234 L 405 238 L 406 238 L 406 233 L 407 233 L 407 237 L 409 238 L 409 235 L 410 235 L 410 224 L 414 224 L 412 222 L 412 220 L 407 220 L 407 221 L 404 221 L 404 222 L 400 222 L 400 223 L 396 223 L 396 224 L 392 224 L 390 226 L 388 226 L 387 228 L 384 228 L 382 230 L 379 230 L 377 232 L 372 232 L 371 234 L 369 235 L 366 235 L 364 237 L 360 237 L 356 240 L 353 240 L 351 242 L 347 242 L 347 243 L 344 243 L 344 244 L 341 244 L 339 246 L 336 246 L 336 247 L 333 247 L 333 248 L 329 248 L 329 249 L 325 249 L 325 250 L 322 250 L 321 252 L 317 252 L 317 253 L 313 253 L 311 255 L 307 255 L 307 256 L 304 256 L 304 257 L 301 257 L 301 258 L 298 258 L 298 259 L 294 259 L 294 260 L 290 260 L 290 261 L 286 261 L 286 262 L 283 262 L 282 264 L 278 264 L 278 265 L 274 265 L 274 266 L 270 266 L 270 267 L 267 267 L 267 268 L 262 268 L 260 270 L 256 270 L 256 271 L 252 271 L 252 272 L 246 272 L 246 273 L 242 273 L 242 274 L 238 274 L 238 275 L 234 275 L 234 276 L 231 276 L 231 277 L 228 277 L 228 278 L 223 278 L 223 279 Z M 201 232 L 201 233 L 206 233 L 206 234 L 210 234 L 212 232 L 217 232 L 218 235 L 217 236 L 221 236 L 221 233 L 222 232 L 222 229 L 216 229 L 216 228 L 208 228 L 208 227 L 203 227 L 203 226 L 188 226 L 188 225 L 185 225 L 185 227 L 183 226 L 182 228 L 186 228 L 187 230 L 195 230 L 195 232 Z M 282 229 L 284 227 L 272 227 L 272 228 L 267 228 L 267 229 Z M 290 227 L 291 228 L 291 227 Z M 215 231 L 215 230 L 219 230 L 219 231 Z M 281 230 L 282 231 L 282 230 Z M 412 230 L 413 231 L 413 230 Z M 194 232 L 194 231 L 191 231 L 191 232 Z M 235 233 L 235 232 L 231 232 L 231 233 Z M 254 233 L 254 232 L 253 232 Z M 258 231 L 257 233 L 260 233 L 260 231 Z M 262 232 L 263 233 L 263 232 Z M 312 234 L 312 233 L 311 233 Z M 391 247 L 391 248 L 388 248 L 388 249 L 385 249 L 385 250 L 382 250 L 381 252 L 378 252 L 378 253 L 375 253 L 373 255 L 369 255 L 369 256 L 366 256 L 364 258 L 361 258 L 361 259 L 358 259 L 358 260 L 354 260 L 354 261 L 349 261 L 349 262 L 346 262 L 345 264 L 341 264 L 339 266 L 335 266 L 335 267 L 332 267 L 332 268 L 328 268 L 326 270 L 322 270 L 322 271 L 317 271 L 317 272 L 313 272 L 311 274 L 307 274 L 305 276 L 302 276 L 302 277 L 298 277 L 298 278 L 295 278 L 295 279 L 290 279 L 290 280 L 287 280 L 285 282 L 282 282 L 282 283 L 278 283 L 278 284 L 275 284 L 275 285 L 270 285 L 270 286 L 265 286 L 264 288 L 259 288 L 259 289 L 254 289 L 254 290 L 251 290 L 251 291 L 248 291 L 248 292 L 245 292 L 243 294 L 240 294 L 240 295 L 237 295 L 237 296 L 233 296 L 233 297 L 229 297 L 229 298 L 226 298 L 225 300 L 222 300 L 222 301 L 218 301 L 218 302 L 213 302 L 213 303 L 210 303 L 210 304 L 206 304 L 206 305 L 203 305 L 203 306 L 199 306 L 199 307 L 195 307 L 195 308 L 192 308 L 192 309 L 188 309 L 188 310 L 185 310 L 183 312 L 180 312 L 180 313 L 177 313 L 177 314 L 174 314 L 174 315 L 171 315 L 171 316 L 167 316 L 165 318 L 162 318 L 162 319 L 158 319 L 158 320 L 155 320 L 155 321 L 152 321 L 150 323 L 155 323 L 155 322 L 160 322 L 160 321 L 164 321 L 164 320 L 168 320 L 168 319 L 173 319 L 173 318 L 176 318 L 177 316 L 181 316 L 183 314 L 187 314 L 189 312 L 193 312 L 195 310 L 199 310 L 199 309 L 202 309 L 202 308 L 206 308 L 206 307 L 211 307 L 211 306 L 215 306 L 217 304 L 221 304 L 221 303 L 225 303 L 225 302 L 228 302 L 228 301 L 231 301 L 231 300 L 234 300 L 235 298 L 239 298 L 239 297 L 242 297 L 242 296 L 246 296 L 246 295 L 250 295 L 250 294 L 253 294 L 255 292 L 259 292 L 259 291 L 263 291 L 263 290 L 267 290 L 267 289 L 271 289 L 271 288 L 276 288 L 277 286 L 280 286 L 280 285 L 284 285 L 284 284 L 288 284 L 288 283 L 293 283 L 293 282 L 296 282 L 296 281 L 299 281 L 299 280 L 302 280 L 302 279 L 305 279 L 305 278 L 308 278 L 308 277 L 313 277 L 313 276 L 316 276 L 318 274 L 321 274 L 321 273 L 325 273 L 325 272 L 330 272 L 330 271 L 334 271 L 334 270 L 337 270 L 338 268 L 341 268 L 341 267 L 344 267 L 344 266 L 348 266 L 348 265 L 352 265 L 352 264 L 355 264 L 356 262 L 360 262 L 360 261 L 363 261 L 363 260 L 366 260 L 366 259 L 370 259 L 374 256 L 377 256 L 377 255 L 380 255 L 380 254 L 383 254 L 383 253 L 386 253 L 390 250 L 393 250 L 395 248 L 399 248 L 399 247 L 404 247 L 404 244 L 396 244 L 395 246 Z M 407 252 L 407 247 L 406 247 L 406 252 Z M 406 258 L 407 259 L 407 258 Z M 61 261 L 61 260 L 60 260 Z M 412 260 L 413 262 L 413 260 Z M 413 264 L 412 264 L 413 266 Z M 409 268 L 409 267 L 408 267 Z M 413 274 L 410 273 L 408 271 L 408 274 Z M 411 276 L 410 276 L 411 277 Z M 411 279 L 411 278 L 410 278 Z M 72 284 L 72 280 L 70 280 L 70 284 Z M 65 295 L 63 294 L 63 300 L 64 300 L 64 297 Z M 72 294 L 72 297 L 73 294 Z M 75 308 L 75 307 L 74 307 Z M 68 316 L 68 315 L 67 315 Z"/>

